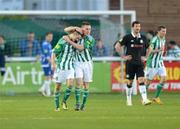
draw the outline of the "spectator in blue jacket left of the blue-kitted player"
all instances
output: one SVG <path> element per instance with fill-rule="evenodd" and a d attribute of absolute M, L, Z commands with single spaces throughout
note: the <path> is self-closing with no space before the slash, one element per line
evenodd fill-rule
<path fill-rule="evenodd" d="M 20 52 L 22 57 L 35 57 L 40 55 L 40 45 L 35 40 L 34 32 L 29 32 L 27 39 L 20 42 Z"/>

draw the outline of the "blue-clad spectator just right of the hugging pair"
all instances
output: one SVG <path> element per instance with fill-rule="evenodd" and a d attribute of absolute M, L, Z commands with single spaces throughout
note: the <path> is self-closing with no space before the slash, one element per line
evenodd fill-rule
<path fill-rule="evenodd" d="M 93 49 L 93 56 L 108 56 L 108 48 L 103 44 L 102 40 L 98 40 L 96 46 Z"/>

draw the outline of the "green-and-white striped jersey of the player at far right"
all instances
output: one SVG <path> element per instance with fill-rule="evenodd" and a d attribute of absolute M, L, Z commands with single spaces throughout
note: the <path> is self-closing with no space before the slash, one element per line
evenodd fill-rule
<path fill-rule="evenodd" d="M 160 49 L 163 46 L 165 46 L 165 38 L 160 39 L 158 36 L 155 36 L 151 42 L 150 42 L 150 46 L 153 48 L 153 50 L 155 49 Z M 149 68 L 160 68 L 164 66 L 163 63 L 163 52 L 164 51 L 160 51 L 157 53 L 151 53 L 147 59 L 147 67 Z"/>

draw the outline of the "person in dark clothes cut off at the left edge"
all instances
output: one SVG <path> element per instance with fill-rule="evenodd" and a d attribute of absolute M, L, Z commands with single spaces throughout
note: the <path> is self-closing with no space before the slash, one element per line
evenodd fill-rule
<path fill-rule="evenodd" d="M 0 35 L 0 72 L 1 72 L 1 76 L 3 76 L 5 74 L 5 64 L 6 64 L 6 60 L 5 60 L 5 40 L 4 40 L 4 36 Z"/>

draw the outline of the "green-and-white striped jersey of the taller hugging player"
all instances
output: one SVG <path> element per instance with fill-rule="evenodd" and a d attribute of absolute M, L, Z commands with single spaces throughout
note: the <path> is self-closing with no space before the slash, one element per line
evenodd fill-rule
<path fill-rule="evenodd" d="M 95 39 L 91 35 L 88 35 L 82 38 L 78 43 L 84 45 L 85 49 L 83 51 L 76 50 L 75 61 L 77 62 L 92 61 L 92 49 L 93 46 L 96 44 Z"/>

